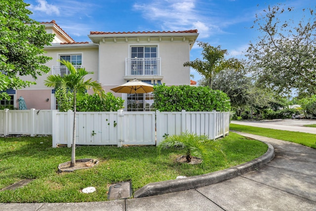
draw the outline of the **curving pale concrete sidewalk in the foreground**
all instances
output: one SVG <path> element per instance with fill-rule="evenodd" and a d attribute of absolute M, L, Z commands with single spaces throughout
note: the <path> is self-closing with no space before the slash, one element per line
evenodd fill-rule
<path fill-rule="evenodd" d="M 315 149 L 263 136 L 237 133 L 271 144 L 275 149 L 275 158 L 259 169 L 236 175 L 232 179 L 185 191 L 108 202 L 0 204 L 0 210 L 316 211 Z M 251 163 L 258 165 L 258 162 Z M 247 168 L 249 166 L 244 165 Z M 245 167 L 240 165 L 239 168 Z M 231 176 L 230 173 L 226 175 Z M 205 176 L 197 176 L 191 182 L 198 183 L 203 177 Z M 170 181 L 171 186 L 168 190 L 172 190 L 174 185 L 173 180 Z M 184 186 L 188 184 L 184 183 Z"/>

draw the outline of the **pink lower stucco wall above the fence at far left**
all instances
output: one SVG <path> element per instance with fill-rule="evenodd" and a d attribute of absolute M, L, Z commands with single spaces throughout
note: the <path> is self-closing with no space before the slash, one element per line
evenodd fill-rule
<path fill-rule="evenodd" d="M 25 100 L 28 109 L 35 108 L 46 110 L 50 109 L 51 90 L 17 90 L 16 99 L 22 96 Z M 46 101 L 48 99 L 48 101 Z M 16 107 L 19 107 L 19 103 L 16 103 Z"/>

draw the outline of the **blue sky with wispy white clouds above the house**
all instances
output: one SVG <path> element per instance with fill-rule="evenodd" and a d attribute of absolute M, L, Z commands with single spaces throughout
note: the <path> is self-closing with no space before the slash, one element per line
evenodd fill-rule
<path fill-rule="evenodd" d="M 288 17 L 301 19 L 303 8 L 315 0 L 25 0 L 30 16 L 39 22 L 55 20 L 76 42 L 90 41 L 90 31 L 183 31 L 197 29 L 197 41 L 221 45 L 228 57 L 244 58 L 258 31 L 250 29 L 255 15 L 268 5 L 294 7 Z M 190 59 L 200 58 L 197 44 Z M 195 75 L 194 80 L 200 76 Z"/>

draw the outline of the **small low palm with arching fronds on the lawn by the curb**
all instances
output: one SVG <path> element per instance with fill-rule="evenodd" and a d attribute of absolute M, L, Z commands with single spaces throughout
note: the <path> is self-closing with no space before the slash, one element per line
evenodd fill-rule
<path fill-rule="evenodd" d="M 190 163 L 192 156 L 195 156 L 202 160 L 203 167 L 211 164 L 211 151 L 220 152 L 225 157 L 222 145 L 218 141 L 211 140 L 206 135 L 197 135 L 188 131 L 183 132 L 181 135 L 167 136 L 158 144 L 158 153 L 160 154 L 162 149 L 171 147 L 186 149 L 187 163 Z"/>

